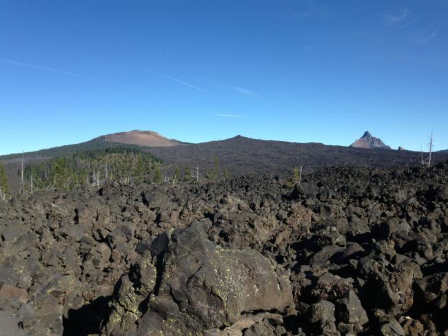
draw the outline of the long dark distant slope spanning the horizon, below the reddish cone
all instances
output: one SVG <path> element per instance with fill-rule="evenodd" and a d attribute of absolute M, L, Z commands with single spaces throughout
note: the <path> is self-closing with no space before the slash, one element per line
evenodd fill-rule
<path fill-rule="evenodd" d="M 174 140 L 176 141 L 176 140 Z M 352 165 L 363 167 L 398 167 L 419 165 L 420 152 L 380 150 L 356 147 L 329 146 L 321 143 L 289 143 L 276 140 L 257 140 L 236 136 L 226 140 L 207 143 L 175 145 L 169 147 L 140 147 L 116 143 L 99 136 L 93 140 L 76 145 L 66 145 L 50 149 L 42 149 L 24 154 L 25 165 L 57 156 L 67 156 L 77 151 L 110 147 L 139 148 L 161 158 L 172 167 L 191 168 L 198 166 L 201 176 L 214 166 L 214 158 L 218 157 L 221 168 L 227 167 L 232 176 L 243 174 L 268 174 L 290 176 L 295 166 L 303 166 L 304 173 L 318 171 L 336 165 Z M 0 156 L 6 163 L 6 169 L 12 189 L 18 190 L 20 185 L 19 170 L 22 154 Z M 448 159 L 448 151 L 433 153 L 433 162 Z"/>

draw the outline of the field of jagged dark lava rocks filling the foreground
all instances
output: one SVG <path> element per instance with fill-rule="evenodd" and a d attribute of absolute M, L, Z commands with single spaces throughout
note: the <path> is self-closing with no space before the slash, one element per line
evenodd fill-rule
<path fill-rule="evenodd" d="M 0 237 L 5 335 L 448 335 L 448 162 L 44 191 Z"/>

